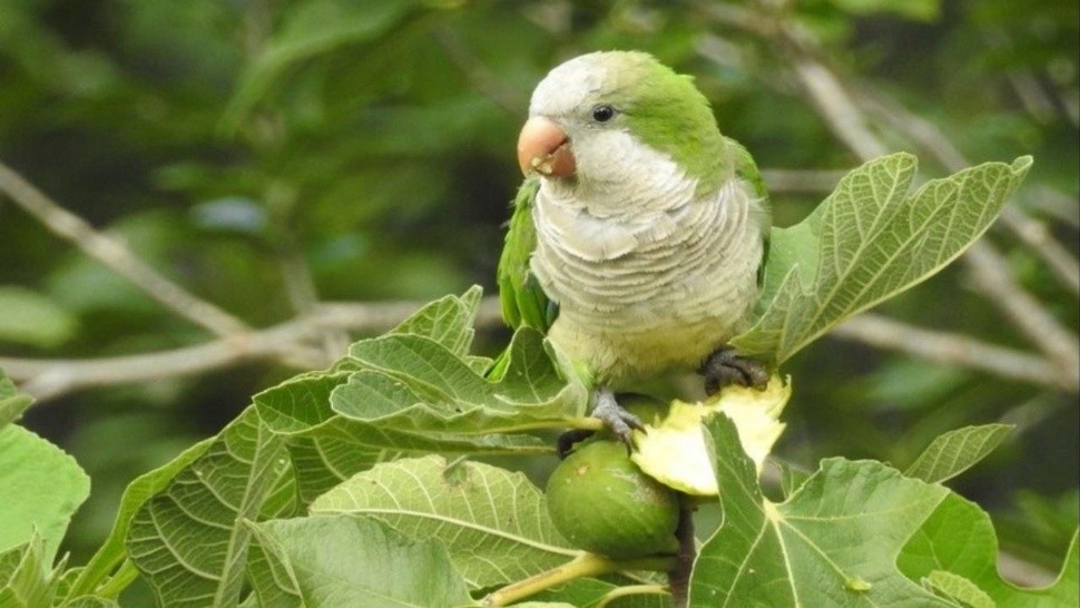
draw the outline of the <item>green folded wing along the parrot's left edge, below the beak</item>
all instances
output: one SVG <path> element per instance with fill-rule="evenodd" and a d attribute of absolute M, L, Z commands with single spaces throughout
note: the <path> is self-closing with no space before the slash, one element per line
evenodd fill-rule
<path fill-rule="evenodd" d="M 547 332 L 554 321 L 557 308 L 529 272 L 529 257 L 537 248 L 532 205 L 539 189 L 539 178 L 530 177 L 513 199 L 507 244 L 499 258 L 499 301 L 502 304 L 502 318 L 511 327 L 523 325 Z"/>

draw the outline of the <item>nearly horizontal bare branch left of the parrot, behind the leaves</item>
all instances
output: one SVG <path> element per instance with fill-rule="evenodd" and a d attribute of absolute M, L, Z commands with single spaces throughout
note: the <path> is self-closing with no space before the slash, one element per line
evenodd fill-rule
<path fill-rule="evenodd" d="M 0 369 L 39 402 L 92 386 L 187 376 L 251 361 L 276 361 L 301 370 L 320 369 L 332 363 L 334 356 L 307 347 L 311 340 L 326 331 L 383 331 L 419 306 L 415 302 L 324 303 L 279 325 L 196 346 L 88 360 L 0 357 Z M 491 327 L 500 322 L 498 300 L 484 298 L 477 325 Z M 344 354 L 344 351 L 337 353 Z"/>

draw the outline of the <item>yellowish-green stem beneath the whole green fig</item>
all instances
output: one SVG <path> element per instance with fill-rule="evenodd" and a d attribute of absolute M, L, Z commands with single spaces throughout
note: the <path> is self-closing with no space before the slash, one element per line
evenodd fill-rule
<path fill-rule="evenodd" d="M 522 598 L 538 594 L 556 585 L 571 581 L 581 577 L 596 577 L 609 575 L 622 570 L 670 570 L 675 565 L 675 558 L 670 556 L 654 556 L 632 559 L 615 559 L 597 553 L 582 551 L 570 561 L 557 566 L 539 575 L 511 582 L 498 591 L 488 594 L 482 600 L 481 606 L 508 606 Z"/>

